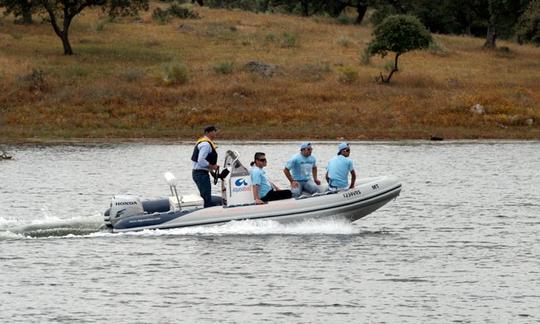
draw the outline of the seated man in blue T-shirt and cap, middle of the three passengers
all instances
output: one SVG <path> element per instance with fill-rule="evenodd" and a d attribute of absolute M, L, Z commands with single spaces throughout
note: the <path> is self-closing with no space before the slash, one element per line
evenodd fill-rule
<path fill-rule="evenodd" d="M 302 191 L 314 194 L 319 192 L 317 185 L 321 181 L 317 179 L 317 159 L 313 155 L 311 143 L 304 142 L 300 145 L 300 153 L 295 154 L 283 169 L 283 173 L 291 183 L 293 197 L 298 197 Z M 311 176 L 313 175 L 313 180 Z"/>

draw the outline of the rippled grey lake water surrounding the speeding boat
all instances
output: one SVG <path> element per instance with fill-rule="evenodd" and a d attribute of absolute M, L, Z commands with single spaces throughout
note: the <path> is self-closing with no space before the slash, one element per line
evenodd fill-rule
<path fill-rule="evenodd" d="M 283 186 L 298 150 L 219 145 Z M 165 171 L 196 191 L 191 145 L 1 148 L 0 323 L 540 322 L 540 142 L 353 143 L 359 177 L 403 184 L 353 224 L 127 234 L 98 230 L 110 198 L 167 195 Z"/>

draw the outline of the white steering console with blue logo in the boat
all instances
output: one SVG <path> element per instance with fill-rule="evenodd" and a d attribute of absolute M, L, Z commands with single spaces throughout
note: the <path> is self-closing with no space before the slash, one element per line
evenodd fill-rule
<path fill-rule="evenodd" d="M 228 174 L 222 178 L 221 189 L 223 204 L 227 206 L 255 203 L 249 170 L 242 165 L 239 157 L 238 152 L 235 151 L 227 151 L 225 155 L 224 166 Z"/>

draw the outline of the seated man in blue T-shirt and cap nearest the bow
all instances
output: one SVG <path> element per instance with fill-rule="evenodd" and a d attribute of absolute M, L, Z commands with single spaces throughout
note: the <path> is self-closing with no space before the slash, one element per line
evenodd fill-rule
<path fill-rule="evenodd" d="M 341 143 L 338 146 L 338 155 L 328 162 L 326 168 L 326 181 L 330 189 L 339 190 L 346 188 L 354 188 L 356 182 L 356 172 L 352 160 L 349 159 L 351 148 L 349 143 Z M 348 177 L 351 173 L 351 184 L 349 185 Z"/>

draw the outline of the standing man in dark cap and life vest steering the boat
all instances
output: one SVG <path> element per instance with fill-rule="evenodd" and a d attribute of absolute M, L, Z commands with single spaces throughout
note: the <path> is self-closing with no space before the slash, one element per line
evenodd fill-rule
<path fill-rule="evenodd" d="M 204 199 L 204 207 L 213 206 L 212 187 L 210 184 L 210 170 L 217 170 L 217 151 L 214 139 L 217 135 L 215 126 L 208 126 L 204 129 L 204 136 L 197 140 L 193 148 L 191 161 L 193 162 L 192 177 L 199 189 L 201 197 Z"/>

